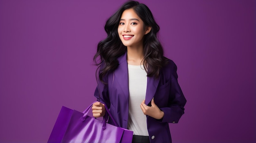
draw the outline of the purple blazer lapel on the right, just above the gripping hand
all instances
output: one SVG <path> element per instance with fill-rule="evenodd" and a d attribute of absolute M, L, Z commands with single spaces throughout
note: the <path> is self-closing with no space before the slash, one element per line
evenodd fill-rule
<path fill-rule="evenodd" d="M 150 101 L 153 99 L 155 92 L 157 90 L 159 80 L 160 80 L 159 77 L 157 79 L 155 79 L 154 77 L 148 77 L 146 99 L 145 99 L 146 105 L 148 105 L 148 103 L 150 103 Z"/>

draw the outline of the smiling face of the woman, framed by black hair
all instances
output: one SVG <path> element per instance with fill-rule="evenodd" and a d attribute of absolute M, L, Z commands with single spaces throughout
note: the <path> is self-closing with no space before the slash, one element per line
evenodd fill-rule
<path fill-rule="evenodd" d="M 150 30 L 133 9 L 126 9 L 121 15 L 118 34 L 124 46 L 143 46 L 143 37 Z"/>

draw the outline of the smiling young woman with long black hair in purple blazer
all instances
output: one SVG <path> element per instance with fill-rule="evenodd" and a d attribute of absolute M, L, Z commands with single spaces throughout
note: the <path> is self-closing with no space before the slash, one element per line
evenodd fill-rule
<path fill-rule="evenodd" d="M 107 106 L 119 127 L 133 131 L 133 143 L 171 143 L 168 123 L 179 121 L 186 99 L 177 66 L 163 56 L 150 9 L 128 1 L 107 20 L 105 31 L 94 56 L 99 102 L 93 116 L 108 116 Z"/>

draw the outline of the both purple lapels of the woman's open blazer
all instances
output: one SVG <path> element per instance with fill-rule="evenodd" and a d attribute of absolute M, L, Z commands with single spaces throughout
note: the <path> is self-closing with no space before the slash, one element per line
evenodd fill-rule
<path fill-rule="evenodd" d="M 126 99 L 129 101 L 129 80 L 128 80 L 128 66 L 127 66 L 127 52 L 118 58 L 119 67 L 115 70 L 114 75 L 116 80 L 118 80 L 121 89 L 124 92 Z M 147 88 L 146 88 L 146 99 L 145 103 L 148 105 L 153 99 L 157 86 L 159 83 L 159 78 L 147 77 Z"/>

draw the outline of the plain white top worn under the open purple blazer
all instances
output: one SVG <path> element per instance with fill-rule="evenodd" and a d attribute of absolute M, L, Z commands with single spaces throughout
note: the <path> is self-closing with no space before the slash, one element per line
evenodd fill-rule
<path fill-rule="evenodd" d="M 143 114 L 140 104 L 146 97 L 147 73 L 144 66 L 128 64 L 129 77 L 129 118 L 128 130 L 133 134 L 148 136 L 146 115 Z"/>

